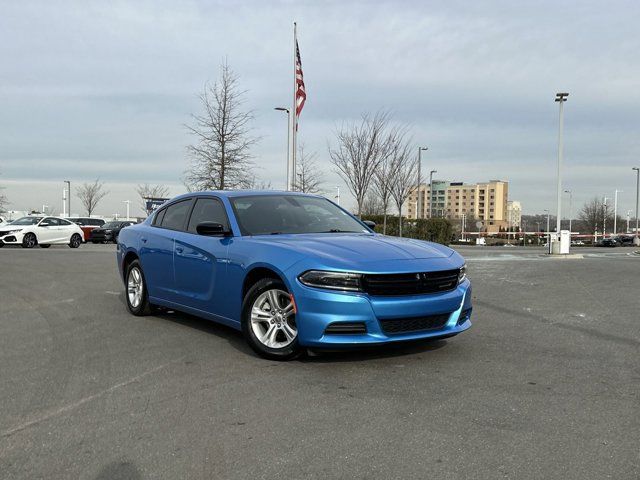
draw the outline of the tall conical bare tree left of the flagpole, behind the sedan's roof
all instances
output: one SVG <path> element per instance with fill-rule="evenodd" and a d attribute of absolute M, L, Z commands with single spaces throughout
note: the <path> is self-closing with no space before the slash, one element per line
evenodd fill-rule
<path fill-rule="evenodd" d="M 226 61 L 221 70 L 199 97 L 204 112 L 192 115 L 194 125 L 187 126 L 196 141 L 187 147 L 191 163 L 185 182 L 194 190 L 247 188 L 252 181 L 249 150 L 258 140 L 250 135 L 253 113 L 242 108 L 246 92 Z"/>

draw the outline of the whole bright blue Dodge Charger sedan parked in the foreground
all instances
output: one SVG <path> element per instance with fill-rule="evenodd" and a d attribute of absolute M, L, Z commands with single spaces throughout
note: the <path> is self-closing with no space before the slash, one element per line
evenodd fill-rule
<path fill-rule="evenodd" d="M 271 359 L 471 326 L 458 253 L 374 233 L 315 195 L 188 193 L 122 230 L 117 259 L 132 314 L 165 307 L 220 322 Z"/>

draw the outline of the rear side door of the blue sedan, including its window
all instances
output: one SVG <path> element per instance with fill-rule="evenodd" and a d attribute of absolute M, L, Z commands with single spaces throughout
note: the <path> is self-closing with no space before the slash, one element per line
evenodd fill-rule
<path fill-rule="evenodd" d="M 193 200 L 188 198 L 168 205 L 142 231 L 140 262 L 152 297 L 176 301 L 173 244 L 176 234 L 185 229 L 192 204 Z"/>

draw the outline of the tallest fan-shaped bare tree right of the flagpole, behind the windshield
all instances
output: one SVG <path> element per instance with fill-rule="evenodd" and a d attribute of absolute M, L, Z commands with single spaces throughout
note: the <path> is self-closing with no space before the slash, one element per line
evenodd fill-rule
<path fill-rule="evenodd" d="M 358 215 L 362 214 L 374 173 L 390 149 L 389 121 L 390 116 L 386 112 L 378 112 L 374 116 L 364 114 L 360 123 L 343 125 L 337 130 L 337 147 L 329 147 L 331 163 L 356 198 Z"/>

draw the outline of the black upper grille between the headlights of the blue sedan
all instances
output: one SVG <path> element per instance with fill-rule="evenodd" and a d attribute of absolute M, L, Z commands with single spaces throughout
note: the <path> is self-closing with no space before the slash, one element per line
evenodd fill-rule
<path fill-rule="evenodd" d="M 363 275 L 362 287 L 369 295 L 421 295 L 453 290 L 458 285 L 460 269 L 441 272 Z"/>

